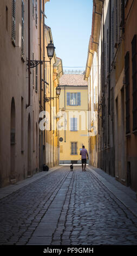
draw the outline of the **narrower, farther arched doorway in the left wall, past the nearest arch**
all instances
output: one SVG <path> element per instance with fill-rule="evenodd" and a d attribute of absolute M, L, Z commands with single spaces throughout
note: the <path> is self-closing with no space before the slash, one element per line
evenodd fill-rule
<path fill-rule="evenodd" d="M 31 123 L 30 114 L 28 117 L 28 176 L 31 175 Z"/>

